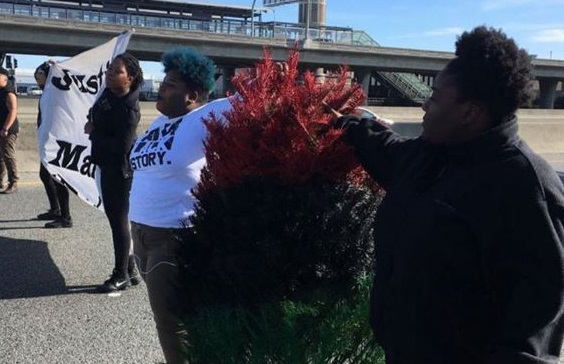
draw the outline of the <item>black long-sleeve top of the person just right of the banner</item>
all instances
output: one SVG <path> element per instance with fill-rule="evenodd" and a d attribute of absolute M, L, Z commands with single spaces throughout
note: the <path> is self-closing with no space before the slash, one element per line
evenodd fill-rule
<path fill-rule="evenodd" d="M 90 110 L 90 120 L 94 124 L 90 133 L 93 162 L 101 168 L 121 168 L 124 177 L 131 177 L 127 154 L 135 140 L 140 119 L 139 90 L 123 97 L 104 90 Z"/>

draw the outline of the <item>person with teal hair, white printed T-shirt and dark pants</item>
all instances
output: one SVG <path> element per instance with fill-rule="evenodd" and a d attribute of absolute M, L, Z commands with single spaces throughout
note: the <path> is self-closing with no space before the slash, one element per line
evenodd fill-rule
<path fill-rule="evenodd" d="M 156 102 L 162 114 L 139 137 L 130 153 L 133 185 L 129 219 L 134 254 L 147 284 L 159 341 L 167 364 L 182 356 L 182 299 L 179 286 L 179 236 L 190 229 L 196 199 L 192 194 L 206 164 L 204 118 L 221 116 L 229 99 L 208 103 L 215 83 L 214 63 L 191 48 L 162 57 L 165 78 Z"/>

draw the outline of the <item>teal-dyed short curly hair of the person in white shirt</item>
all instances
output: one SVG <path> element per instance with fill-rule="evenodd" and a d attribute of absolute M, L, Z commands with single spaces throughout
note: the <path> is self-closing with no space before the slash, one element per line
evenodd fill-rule
<path fill-rule="evenodd" d="M 175 48 L 162 57 L 165 73 L 177 71 L 190 89 L 211 92 L 215 85 L 215 64 L 193 48 Z"/>

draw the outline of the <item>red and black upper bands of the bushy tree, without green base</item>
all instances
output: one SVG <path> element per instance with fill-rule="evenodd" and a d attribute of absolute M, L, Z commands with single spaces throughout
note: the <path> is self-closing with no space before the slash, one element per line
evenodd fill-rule
<path fill-rule="evenodd" d="M 249 306 L 354 284 L 373 263 L 380 200 L 332 128 L 364 100 L 345 68 L 318 83 L 266 54 L 233 79 L 227 122 L 206 122 L 207 166 L 182 253 L 190 307 Z"/>

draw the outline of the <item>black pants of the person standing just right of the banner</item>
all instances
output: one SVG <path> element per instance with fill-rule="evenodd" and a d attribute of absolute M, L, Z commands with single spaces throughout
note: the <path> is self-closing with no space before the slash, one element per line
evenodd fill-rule
<path fill-rule="evenodd" d="M 114 242 L 114 268 L 127 272 L 131 254 L 131 233 L 129 230 L 129 190 L 131 178 L 124 178 L 120 167 L 100 168 L 102 202 L 112 230 Z"/>

